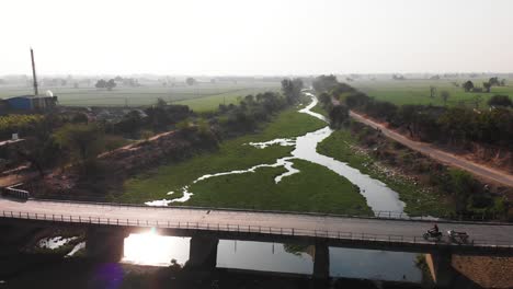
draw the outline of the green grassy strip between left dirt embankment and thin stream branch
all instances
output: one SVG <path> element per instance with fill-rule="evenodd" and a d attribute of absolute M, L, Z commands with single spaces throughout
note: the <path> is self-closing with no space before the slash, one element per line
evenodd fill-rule
<path fill-rule="evenodd" d="M 278 137 L 300 136 L 319 129 L 323 125 L 317 118 L 297 113 L 296 108 L 289 108 L 277 115 L 272 123 L 265 124 L 259 134 L 228 139 L 220 143 L 216 152 L 202 153 L 183 162 L 162 165 L 146 174 L 129 178 L 124 184 L 123 194 L 116 198 L 128 203 L 161 199 L 167 197 L 168 192 L 175 192 L 205 174 L 243 170 L 261 163 L 274 163 L 276 159 L 288 155 L 292 147 L 272 146 L 266 149 L 256 149 L 247 143 L 267 141 Z M 180 194 L 176 192 L 173 197 Z"/>

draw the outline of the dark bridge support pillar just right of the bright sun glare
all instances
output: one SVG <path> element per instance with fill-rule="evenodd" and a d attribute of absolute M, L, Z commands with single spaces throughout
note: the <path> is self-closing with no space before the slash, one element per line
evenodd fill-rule
<path fill-rule="evenodd" d="M 219 239 L 213 236 L 195 235 L 191 238 L 186 267 L 205 270 L 216 268 L 218 243 Z"/>

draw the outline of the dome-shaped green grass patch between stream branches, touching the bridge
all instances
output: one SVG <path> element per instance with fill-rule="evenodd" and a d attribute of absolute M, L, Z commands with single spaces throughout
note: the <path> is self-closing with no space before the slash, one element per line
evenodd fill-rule
<path fill-rule="evenodd" d="M 324 166 L 294 160 L 299 170 L 280 183 L 284 167 L 263 167 L 256 173 L 226 175 L 191 186 L 195 195 L 186 205 L 266 210 L 371 213 L 358 188 Z"/>

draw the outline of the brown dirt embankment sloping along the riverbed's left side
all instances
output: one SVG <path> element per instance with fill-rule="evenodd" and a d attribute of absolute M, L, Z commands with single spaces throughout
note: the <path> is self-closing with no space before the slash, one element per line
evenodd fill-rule
<path fill-rule="evenodd" d="M 214 135 L 195 128 L 169 131 L 123 148 L 102 153 L 90 175 L 76 167 L 55 172 L 27 187 L 38 197 L 87 198 L 98 200 L 118 188 L 128 176 L 148 171 L 164 162 L 190 158 L 197 151 L 217 148 Z"/>

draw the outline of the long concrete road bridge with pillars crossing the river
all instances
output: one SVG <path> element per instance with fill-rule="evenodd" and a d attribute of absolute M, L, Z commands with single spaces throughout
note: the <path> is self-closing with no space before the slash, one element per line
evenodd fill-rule
<path fill-rule="evenodd" d="M 191 266 L 214 266 L 219 239 L 315 245 L 314 275 L 329 276 L 329 247 L 425 253 L 438 284 L 449 277 L 451 255 L 513 255 L 513 224 L 437 221 L 442 232 L 465 231 L 468 243 L 426 241 L 432 221 L 332 215 L 248 211 L 189 207 L 148 207 L 57 200 L 0 198 L 0 222 L 16 226 L 73 226 L 88 229 L 88 254 L 102 255 L 106 243 L 156 228 L 161 234 L 192 236 Z M 98 252 L 94 252 L 98 251 Z"/>

